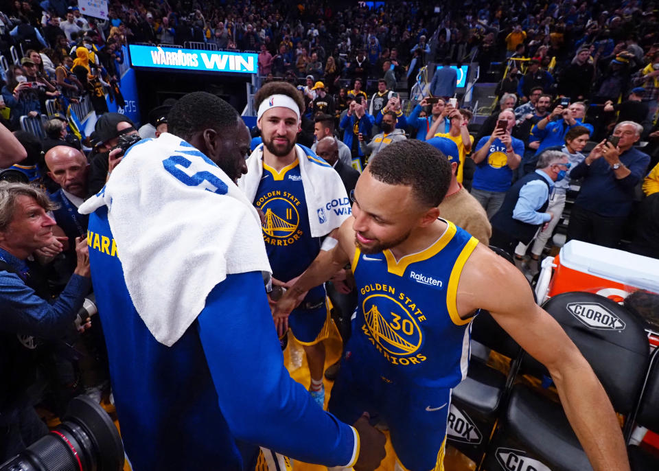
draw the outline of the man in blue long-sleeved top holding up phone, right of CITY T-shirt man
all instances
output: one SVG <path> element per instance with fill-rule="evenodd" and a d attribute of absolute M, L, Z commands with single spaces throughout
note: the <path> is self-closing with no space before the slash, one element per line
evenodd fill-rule
<path fill-rule="evenodd" d="M 561 98 L 554 111 L 533 126 L 529 137 L 529 148 L 535 149 L 535 155 L 539 155 L 548 147 L 562 146 L 568 131 L 575 126 L 588 128 L 592 135 L 592 126 L 583 123 L 584 115 L 586 115 L 586 104 L 583 102 L 570 104 L 569 98 Z"/>

